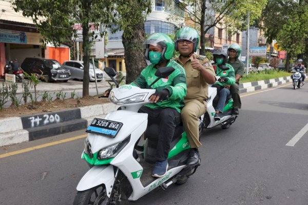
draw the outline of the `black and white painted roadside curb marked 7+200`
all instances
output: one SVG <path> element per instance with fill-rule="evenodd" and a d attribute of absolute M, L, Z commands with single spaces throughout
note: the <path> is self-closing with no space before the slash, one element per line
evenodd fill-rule
<path fill-rule="evenodd" d="M 272 88 L 292 81 L 291 77 L 260 80 L 239 85 L 240 93 Z M 64 111 L 0 119 L 0 147 L 87 128 L 94 117 L 104 118 L 118 106 L 107 103 Z"/>

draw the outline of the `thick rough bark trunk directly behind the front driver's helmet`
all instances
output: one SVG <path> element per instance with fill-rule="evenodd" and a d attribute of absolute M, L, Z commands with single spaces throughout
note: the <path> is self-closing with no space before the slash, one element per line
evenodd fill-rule
<path fill-rule="evenodd" d="M 126 84 L 131 83 L 147 66 L 144 58 L 142 44 L 144 42 L 144 21 L 141 18 L 139 23 L 131 28 L 134 31 L 132 37 L 126 37 L 123 32 L 122 43 L 124 45 L 124 57 L 126 67 Z M 129 61 L 127 59 L 130 59 Z"/>

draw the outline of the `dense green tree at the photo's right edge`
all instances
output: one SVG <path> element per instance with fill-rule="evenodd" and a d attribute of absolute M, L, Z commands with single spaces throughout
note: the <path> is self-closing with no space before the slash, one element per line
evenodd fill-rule
<path fill-rule="evenodd" d="M 308 1 L 269 0 L 263 11 L 263 21 L 267 42 L 276 39 L 280 47 L 287 51 L 285 69 L 290 59 L 306 50 Z"/>

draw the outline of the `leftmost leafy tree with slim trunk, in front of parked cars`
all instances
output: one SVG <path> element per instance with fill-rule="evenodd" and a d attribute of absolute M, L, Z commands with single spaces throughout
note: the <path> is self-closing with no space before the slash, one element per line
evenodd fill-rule
<path fill-rule="evenodd" d="M 23 15 L 31 17 L 38 31 L 42 34 L 41 42 L 53 43 L 59 46 L 69 42 L 76 30 L 75 23 L 79 23 L 83 29 L 83 59 L 84 79 L 83 96 L 89 95 L 89 54 L 91 42 L 89 38 L 95 38 L 89 33 L 89 24 L 98 27 L 107 24 L 112 17 L 110 10 L 113 4 L 110 0 L 16 0 L 12 2 L 15 11 L 22 10 Z M 65 5 L 65 6 L 64 6 Z"/>

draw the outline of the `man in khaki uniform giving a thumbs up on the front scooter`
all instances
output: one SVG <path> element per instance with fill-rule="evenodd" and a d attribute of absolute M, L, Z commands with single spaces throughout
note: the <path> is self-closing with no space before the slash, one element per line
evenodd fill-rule
<path fill-rule="evenodd" d="M 208 97 L 208 84 L 216 81 L 215 71 L 205 56 L 196 56 L 199 45 L 198 32 L 191 27 L 181 28 L 175 36 L 176 51 L 180 56 L 176 61 L 184 67 L 186 73 L 187 94 L 184 98 L 185 106 L 181 118 L 190 144 L 187 165 L 194 166 L 199 163 L 199 120 L 206 112 L 206 99 Z"/>

